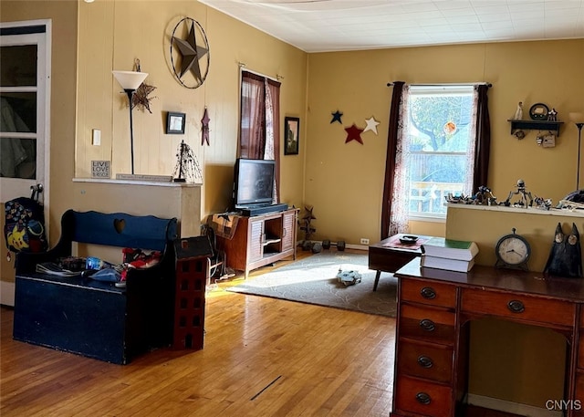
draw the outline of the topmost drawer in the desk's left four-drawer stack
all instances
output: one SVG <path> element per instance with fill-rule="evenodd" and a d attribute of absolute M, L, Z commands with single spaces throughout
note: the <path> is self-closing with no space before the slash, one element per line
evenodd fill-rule
<path fill-rule="evenodd" d="M 456 287 L 438 282 L 401 278 L 401 299 L 431 306 L 456 307 Z"/>

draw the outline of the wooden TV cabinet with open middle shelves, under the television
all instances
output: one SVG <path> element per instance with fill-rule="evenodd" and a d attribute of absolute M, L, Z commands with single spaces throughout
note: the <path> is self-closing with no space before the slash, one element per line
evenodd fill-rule
<path fill-rule="evenodd" d="M 296 259 L 298 209 L 285 212 L 241 216 L 232 239 L 217 236 L 217 246 L 225 253 L 226 265 L 244 271 L 266 266 L 287 257 Z"/>

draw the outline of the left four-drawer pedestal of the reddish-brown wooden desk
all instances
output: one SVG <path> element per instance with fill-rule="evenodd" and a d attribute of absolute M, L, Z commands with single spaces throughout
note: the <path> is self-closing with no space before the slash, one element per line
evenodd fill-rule
<path fill-rule="evenodd" d="M 395 413 L 453 414 L 456 287 L 400 281 Z"/>

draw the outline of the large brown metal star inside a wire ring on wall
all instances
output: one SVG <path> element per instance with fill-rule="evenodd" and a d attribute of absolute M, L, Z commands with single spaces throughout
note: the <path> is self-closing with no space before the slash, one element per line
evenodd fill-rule
<path fill-rule="evenodd" d="M 186 33 L 186 39 L 177 36 Z M 203 85 L 209 73 L 211 54 L 203 26 L 190 17 L 184 17 L 172 30 L 171 63 L 174 77 L 187 89 Z"/>

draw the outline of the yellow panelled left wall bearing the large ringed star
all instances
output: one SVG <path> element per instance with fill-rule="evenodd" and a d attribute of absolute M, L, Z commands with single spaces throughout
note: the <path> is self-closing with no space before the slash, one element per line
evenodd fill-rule
<path fill-rule="evenodd" d="M 185 16 L 203 26 L 210 47 L 209 74 L 198 89 L 184 88 L 172 73 L 172 32 Z M 186 36 L 180 31 L 176 35 Z M 152 114 L 133 111 L 135 172 L 172 174 L 177 147 L 184 140 L 203 168 L 203 216 L 223 212 L 230 204 L 239 63 L 268 77 L 283 77 L 282 119 L 303 116 L 307 55 L 198 2 L 80 2 L 78 36 L 78 177 L 89 177 L 92 160 L 110 160 L 113 174 L 130 172 L 128 99 L 120 94 L 111 70 L 131 70 L 135 58 L 140 59 L 141 70 L 149 73 L 146 83 L 156 87 L 151 93 Z M 211 119 L 210 146 L 201 143 L 205 107 Z M 184 135 L 165 134 L 167 111 L 186 113 Z M 102 132 L 99 147 L 91 145 L 92 129 Z M 302 169 L 302 155 L 282 160 L 282 202 L 302 202 Z"/>

